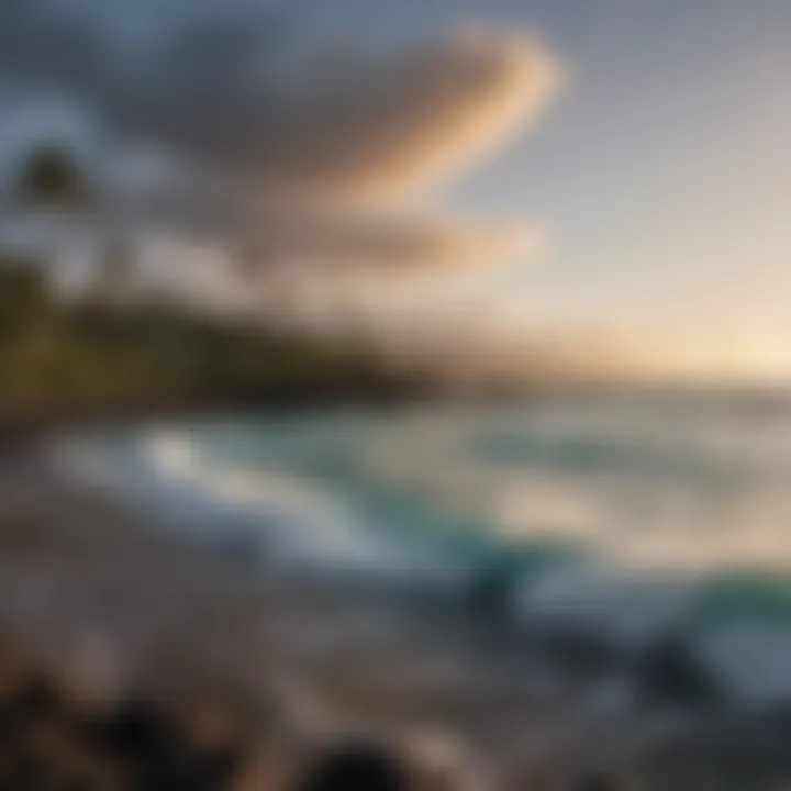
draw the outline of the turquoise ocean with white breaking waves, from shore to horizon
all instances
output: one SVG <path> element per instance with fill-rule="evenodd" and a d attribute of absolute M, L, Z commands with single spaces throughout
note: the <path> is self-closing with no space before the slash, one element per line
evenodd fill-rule
<path fill-rule="evenodd" d="M 791 399 L 216 415 L 65 447 L 246 560 L 483 591 L 624 656 L 680 636 L 734 700 L 791 692 Z"/>

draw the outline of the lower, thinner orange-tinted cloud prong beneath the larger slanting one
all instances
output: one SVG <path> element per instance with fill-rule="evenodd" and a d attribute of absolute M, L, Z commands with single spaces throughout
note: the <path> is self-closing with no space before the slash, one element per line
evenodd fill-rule
<path fill-rule="evenodd" d="M 427 209 L 368 213 L 277 203 L 250 208 L 229 196 L 147 196 L 127 222 L 222 239 L 253 269 L 293 264 L 331 276 L 457 271 L 532 253 L 541 244 L 541 236 L 524 223 L 458 220 Z"/>

